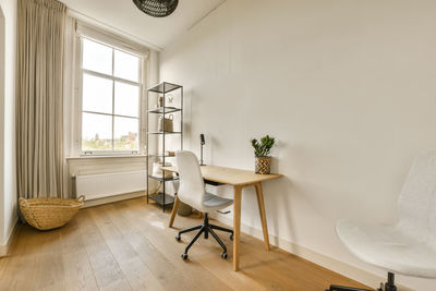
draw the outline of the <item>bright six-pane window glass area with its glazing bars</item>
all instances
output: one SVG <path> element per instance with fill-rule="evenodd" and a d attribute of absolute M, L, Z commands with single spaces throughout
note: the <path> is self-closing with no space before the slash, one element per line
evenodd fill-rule
<path fill-rule="evenodd" d="M 142 58 L 81 37 L 82 154 L 140 151 Z"/>

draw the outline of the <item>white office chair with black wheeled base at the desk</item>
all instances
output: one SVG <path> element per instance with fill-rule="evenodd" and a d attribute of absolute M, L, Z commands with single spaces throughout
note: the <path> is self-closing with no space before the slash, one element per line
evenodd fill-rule
<path fill-rule="evenodd" d="M 179 199 L 205 214 L 203 225 L 181 230 L 175 237 L 175 240 L 180 241 L 180 234 L 194 230 L 199 230 L 194 239 L 187 244 L 184 253 L 182 253 L 182 258 L 187 258 L 187 251 L 199 238 L 199 235 L 202 235 L 202 233 L 204 233 L 205 239 L 208 239 L 208 234 L 210 233 L 222 247 L 221 257 L 227 258 L 227 247 L 214 230 L 230 232 L 231 240 L 233 239 L 233 230 L 210 225 L 207 213 L 226 208 L 232 205 L 233 201 L 222 198 L 206 192 L 202 171 L 198 166 L 198 160 L 193 153 L 187 150 L 177 151 L 175 159 L 180 178 L 180 189 L 178 192 Z"/>

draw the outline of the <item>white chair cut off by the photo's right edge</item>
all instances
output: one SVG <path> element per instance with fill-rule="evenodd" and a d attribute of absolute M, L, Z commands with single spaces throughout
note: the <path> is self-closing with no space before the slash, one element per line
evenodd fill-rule
<path fill-rule="evenodd" d="M 384 289 L 396 291 L 393 274 L 436 278 L 436 154 L 419 156 L 398 202 L 398 222 L 368 226 L 341 221 L 336 231 L 360 259 L 388 271 Z M 330 291 L 364 290 L 330 286 Z"/>

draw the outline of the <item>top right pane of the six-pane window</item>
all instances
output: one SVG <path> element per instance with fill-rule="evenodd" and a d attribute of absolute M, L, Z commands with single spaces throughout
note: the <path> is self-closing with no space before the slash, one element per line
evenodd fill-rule
<path fill-rule="evenodd" d="M 114 50 L 113 75 L 130 80 L 140 81 L 140 58 L 133 54 Z"/>

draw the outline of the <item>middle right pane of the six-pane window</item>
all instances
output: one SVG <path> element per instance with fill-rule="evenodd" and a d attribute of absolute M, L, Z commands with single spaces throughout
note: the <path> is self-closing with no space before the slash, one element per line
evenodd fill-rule
<path fill-rule="evenodd" d="M 116 82 L 116 114 L 138 117 L 140 86 Z"/>

